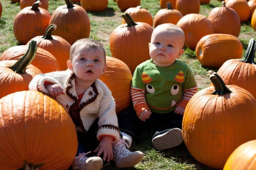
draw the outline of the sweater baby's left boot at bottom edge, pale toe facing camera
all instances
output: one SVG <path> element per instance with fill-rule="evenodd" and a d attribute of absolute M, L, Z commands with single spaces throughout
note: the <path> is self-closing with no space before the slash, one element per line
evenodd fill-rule
<path fill-rule="evenodd" d="M 86 157 L 87 153 L 79 153 L 78 157 L 75 157 L 72 164 L 73 170 L 100 170 L 103 165 L 103 160 L 100 157 Z"/>

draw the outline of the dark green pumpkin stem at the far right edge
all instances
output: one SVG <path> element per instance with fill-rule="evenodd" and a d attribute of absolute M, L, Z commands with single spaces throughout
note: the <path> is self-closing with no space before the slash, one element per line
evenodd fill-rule
<path fill-rule="evenodd" d="M 254 40 L 254 38 L 252 38 L 250 39 L 248 48 L 245 52 L 245 58 L 240 61 L 244 63 L 256 64 L 254 62 L 255 50 L 256 50 L 256 41 Z"/>

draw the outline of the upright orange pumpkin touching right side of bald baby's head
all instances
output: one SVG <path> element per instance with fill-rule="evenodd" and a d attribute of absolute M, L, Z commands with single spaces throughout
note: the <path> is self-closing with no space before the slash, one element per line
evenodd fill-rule
<path fill-rule="evenodd" d="M 197 13 L 190 13 L 183 16 L 178 21 L 177 26 L 185 33 L 184 45 L 188 45 L 190 49 L 195 49 L 197 42 L 203 36 L 213 34 L 213 26 L 209 19 Z"/>

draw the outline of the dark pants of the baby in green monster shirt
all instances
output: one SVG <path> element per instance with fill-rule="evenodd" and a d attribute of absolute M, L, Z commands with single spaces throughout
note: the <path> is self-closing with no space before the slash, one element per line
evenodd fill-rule
<path fill-rule="evenodd" d="M 117 118 L 120 131 L 132 136 L 134 142 L 140 142 L 143 131 L 154 130 L 153 137 L 155 137 L 173 128 L 181 129 L 183 115 L 174 112 L 165 114 L 152 112 L 149 119 L 142 121 L 131 106 L 119 113 Z"/>

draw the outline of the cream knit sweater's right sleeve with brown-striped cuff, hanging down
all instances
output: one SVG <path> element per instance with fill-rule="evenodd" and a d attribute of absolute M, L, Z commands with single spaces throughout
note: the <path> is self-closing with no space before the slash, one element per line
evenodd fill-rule
<path fill-rule="evenodd" d="M 97 139 L 100 141 L 102 136 L 111 136 L 113 137 L 113 142 L 116 142 L 119 140 L 116 104 L 108 87 L 102 81 L 98 80 L 98 82 L 100 82 L 99 92 L 102 92 L 102 97 L 99 109 Z"/>

